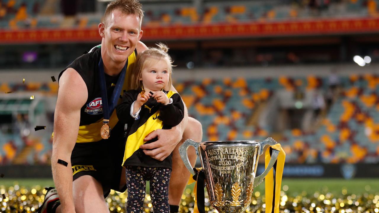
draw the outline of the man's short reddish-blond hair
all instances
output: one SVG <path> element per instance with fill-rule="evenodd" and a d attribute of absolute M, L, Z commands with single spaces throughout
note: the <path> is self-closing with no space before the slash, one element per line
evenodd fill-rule
<path fill-rule="evenodd" d="M 142 21 L 143 10 L 141 3 L 137 0 L 115 0 L 106 6 L 103 23 L 107 21 L 106 19 L 115 9 L 119 9 L 125 14 L 136 14 L 139 17 L 139 20 Z"/>

